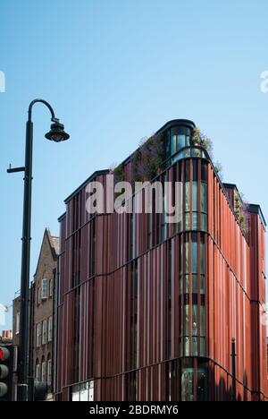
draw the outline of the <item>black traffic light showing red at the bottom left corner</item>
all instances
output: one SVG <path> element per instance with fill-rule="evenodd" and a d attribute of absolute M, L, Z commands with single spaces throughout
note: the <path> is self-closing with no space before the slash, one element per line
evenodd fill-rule
<path fill-rule="evenodd" d="M 0 401 L 13 397 L 13 346 L 0 346 Z"/>

